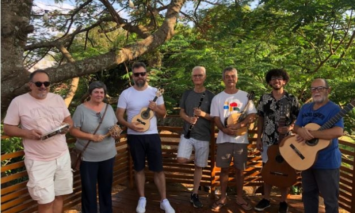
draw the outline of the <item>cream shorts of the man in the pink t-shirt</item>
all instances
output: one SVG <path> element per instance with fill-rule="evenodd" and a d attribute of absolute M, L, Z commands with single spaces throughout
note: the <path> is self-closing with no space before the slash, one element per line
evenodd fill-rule
<path fill-rule="evenodd" d="M 72 193 L 69 151 L 52 161 L 28 160 L 25 156 L 24 162 L 29 176 L 27 187 L 38 204 L 47 204 L 54 201 L 55 196 Z"/>

